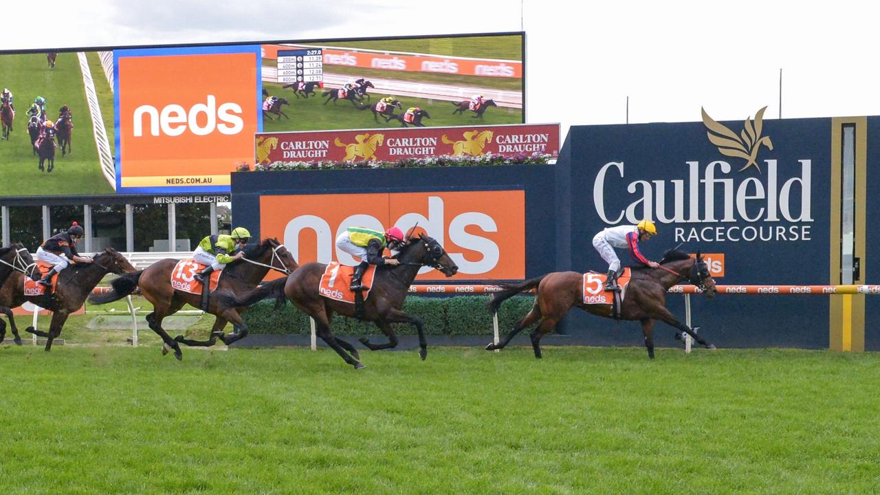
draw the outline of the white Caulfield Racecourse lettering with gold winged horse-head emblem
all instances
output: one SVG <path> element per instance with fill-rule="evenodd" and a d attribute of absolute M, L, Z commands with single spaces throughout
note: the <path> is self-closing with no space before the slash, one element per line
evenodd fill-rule
<path fill-rule="evenodd" d="M 814 161 L 827 163 L 827 151 L 822 157 L 791 146 L 774 151 L 780 139 L 762 135 L 764 110 L 741 123 L 739 133 L 704 111 L 703 129 L 689 124 L 704 136 L 690 137 L 700 144 L 695 149 L 664 153 L 669 144 L 649 144 L 627 159 L 602 160 L 592 183 L 598 218 L 606 225 L 642 218 L 671 224 L 677 243 L 811 240 Z M 627 144 L 639 141 L 645 139 Z"/>

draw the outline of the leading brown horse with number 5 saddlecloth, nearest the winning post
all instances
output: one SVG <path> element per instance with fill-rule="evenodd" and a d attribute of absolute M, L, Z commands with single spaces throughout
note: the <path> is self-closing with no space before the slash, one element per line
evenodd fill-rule
<path fill-rule="evenodd" d="M 642 322 L 645 347 L 648 348 L 648 356 L 652 359 L 654 358 L 654 320 L 663 321 L 686 332 L 707 349 L 715 349 L 715 345 L 709 344 L 693 329 L 676 320 L 675 316 L 666 309 L 666 291 L 672 285 L 683 281 L 696 285 L 710 298 L 715 296 L 717 292 L 715 280 L 709 275 L 706 262 L 703 261 L 700 253 L 697 253 L 695 258 L 691 258 L 687 253 L 672 249 L 664 254 L 664 259 L 660 263 L 662 269 L 632 270 L 633 277 L 620 308 L 620 320 Z M 535 351 L 535 358 L 540 358 L 541 337 L 550 333 L 572 307 L 580 307 L 588 313 L 612 318 L 612 309 L 609 305 L 583 304 L 583 274 L 575 271 L 556 271 L 526 280 L 522 284 L 506 286 L 489 302 L 489 309 L 497 311 L 504 299 L 536 286 L 538 292 L 532 311 L 522 320 L 517 321 L 513 330 L 504 336 L 499 344 L 488 344 L 486 346 L 488 351 L 503 349 L 520 330 L 538 323 L 538 327 L 532 331 L 532 348 Z"/>

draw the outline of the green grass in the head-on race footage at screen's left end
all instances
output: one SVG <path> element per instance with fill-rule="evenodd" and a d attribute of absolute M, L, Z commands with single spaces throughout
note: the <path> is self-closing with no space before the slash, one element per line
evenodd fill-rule
<path fill-rule="evenodd" d="M 0 175 L 4 183 L 11 184 L 0 191 L 0 196 L 113 194 L 113 188 L 100 172 L 77 55 L 58 54 L 55 70 L 47 68 L 46 55 L 2 55 L 0 74 L 3 84 L 15 95 L 16 107 L 11 137 L 0 143 Z M 72 151 L 65 157 L 60 149 L 56 151 L 55 170 L 51 174 L 37 168 L 39 160 L 33 156 L 27 134 L 27 108 L 37 95 L 47 100 L 48 115 L 53 121 L 62 105 L 70 106 L 73 113 Z M 112 109 L 111 105 L 105 110 L 112 115 Z"/>

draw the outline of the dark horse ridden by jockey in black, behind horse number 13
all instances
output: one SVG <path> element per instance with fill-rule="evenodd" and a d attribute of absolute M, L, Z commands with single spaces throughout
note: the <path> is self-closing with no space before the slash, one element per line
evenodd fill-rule
<path fill-rule="evenodd" d="M 31 302 L 36 306 L 45 307 L 52 312 L 52 321 L 49 323 L 49 331 L 28 327 L 25 331 L 37 336 L 46 337 L 46 351 L 52 349 L 52 341 L 61 335 L 64 321 L 67 317 L 83 307 L 85 298 L 92 293 L 102 278 L 108 273 L 121 275 L 135 271 L 135 267 L 125 259 L 121 253 L 113 247 L 107 247 L 92 259 L 91 263 L 71 264 L 67 269 L 58 274 L 58 283 L 55 292 L 40 296 L 26 296 L 24 294 L 24 275 L 13 273 L 6 279 L 6 283 L 0 287 L 0 307 L 19 307 L 25 302 Z M 10 317 L 10 321 L 13 321 Z M 14 328 L 14 323 L 13 323 Z M 18 336 L 18 335 L 17 335 Z"/>

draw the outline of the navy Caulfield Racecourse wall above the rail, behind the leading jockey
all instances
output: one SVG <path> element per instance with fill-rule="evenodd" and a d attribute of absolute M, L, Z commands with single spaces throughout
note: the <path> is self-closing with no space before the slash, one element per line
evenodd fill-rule
<path fill-rule="evenodd" d="M 734 122 L 703 109 L 700 122 L 573 128 L 572 188 L 581 194 L 572 238 L 649 218 L 660 235 L 644 249 L 655 259 L 682 244 L 723 255 L 725 282 L 824 281 L 831 119 L 771 120 L 765 110 Z M 601 263 L 583 251 L 573 247 L 573 262 Z M 821 262 L 792 270 L 804 255 Z"/>

